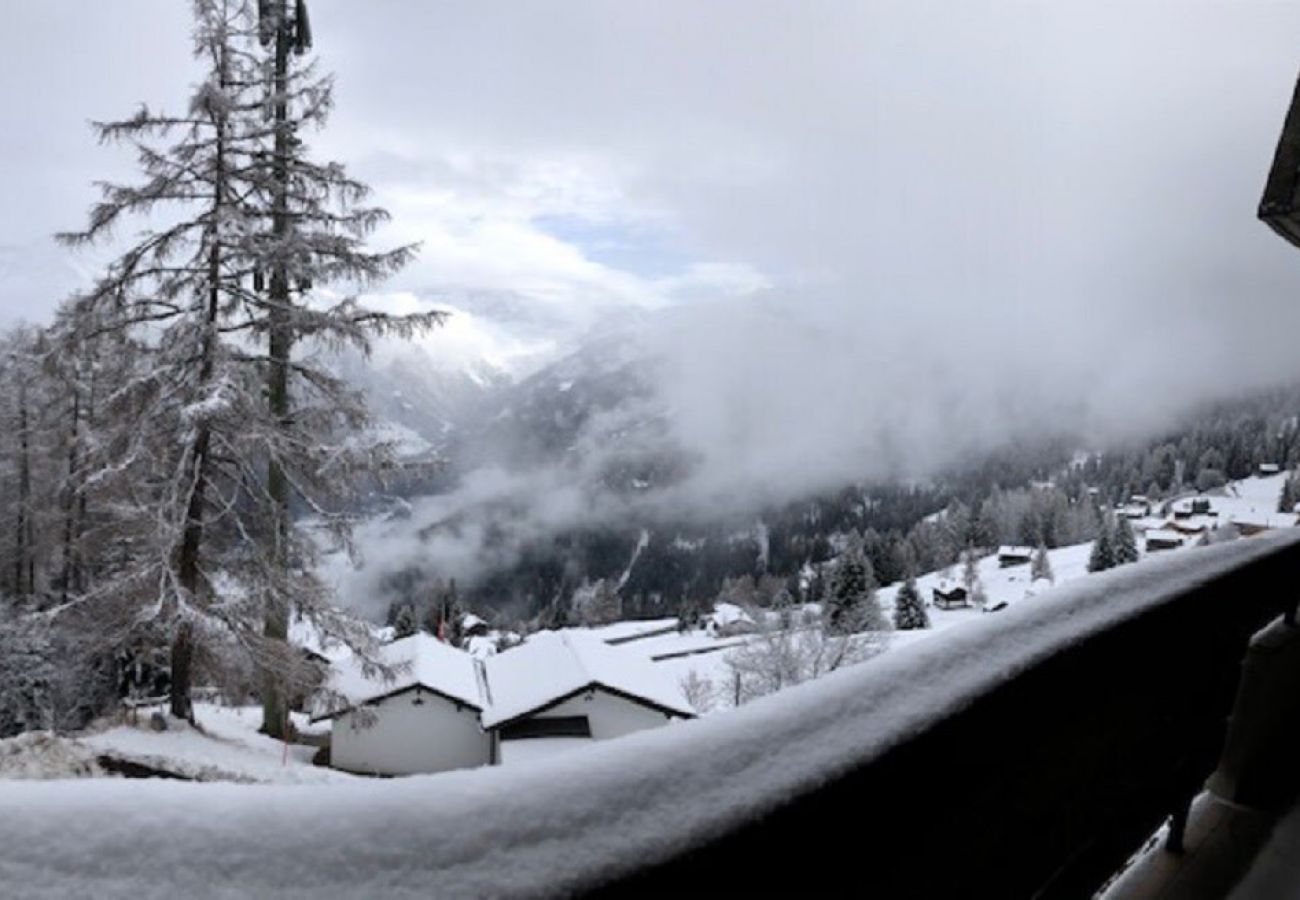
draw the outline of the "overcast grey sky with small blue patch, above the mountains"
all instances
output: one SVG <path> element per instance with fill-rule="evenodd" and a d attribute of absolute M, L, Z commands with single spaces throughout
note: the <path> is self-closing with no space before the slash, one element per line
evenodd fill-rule
<path fill-rule="evenodd" d="M 129 172 L 84 122 L 183 101 L 187 7 L 8 4 L 0 319 L 92 263 L 48 242 Z M 398 299 L 508 291 L 563 339 L 670 308 L 666 395 L 732 473 L 861 466 L 883 424 L 924 457 L 1300 375 L 1300 251 L 1254 220 L 1300 5 L 311 9 L 338 75 L 313 140 L 377 189 L 384 239 L 424 242 Z"/>

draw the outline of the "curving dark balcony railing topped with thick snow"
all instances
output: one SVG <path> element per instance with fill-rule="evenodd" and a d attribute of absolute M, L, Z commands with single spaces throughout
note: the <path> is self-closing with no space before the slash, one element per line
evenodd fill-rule
<path fill-rule="evenodd" d="M 1089 577 L 749 706 L 519 769 L 14 784 L 49 896 L 1087 896 L 1204 783 L 1300 533 Z"/>

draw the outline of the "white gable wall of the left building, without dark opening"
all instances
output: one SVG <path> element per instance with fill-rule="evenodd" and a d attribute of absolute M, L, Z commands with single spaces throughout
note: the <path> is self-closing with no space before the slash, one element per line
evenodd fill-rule
<path fill-rule="evenodd" d="M 422 704 L 416 704 L 421 700 Z M 367 708 L 369 727 L 358 724 L 356 711 L 334 719 L 330 765 L 355 773 L 413 775 L 485 766 L 490 737 L 478 724 L 478 711 L 430 691 L 415 688 Z"/>

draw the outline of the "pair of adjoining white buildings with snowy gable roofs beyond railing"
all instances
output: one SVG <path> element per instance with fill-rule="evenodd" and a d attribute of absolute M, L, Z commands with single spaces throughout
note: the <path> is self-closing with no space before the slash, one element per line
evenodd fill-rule
<path fill-rule="evenodd" d="M 653 662 L 598 637 L 543 632 L 486 659 L 425 633 L 382 649 L 395 676 L 337 663 L 315 722 L 330 765 L 412 775 L 512 762 L 694 717 Z"/>

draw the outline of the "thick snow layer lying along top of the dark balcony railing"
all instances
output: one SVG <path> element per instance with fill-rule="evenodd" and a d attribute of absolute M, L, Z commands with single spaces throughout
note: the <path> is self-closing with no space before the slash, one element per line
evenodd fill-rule
<path fill-rule="evenodd" d="M 760 815 L 1061 648 L 1296 544 L 1280 532 L 1124 566 L 949 640 L 534 765 L 321 786 L 6 784 L 0 883 L 133 899 L 580 890 Z"/>

